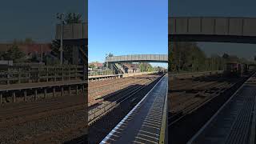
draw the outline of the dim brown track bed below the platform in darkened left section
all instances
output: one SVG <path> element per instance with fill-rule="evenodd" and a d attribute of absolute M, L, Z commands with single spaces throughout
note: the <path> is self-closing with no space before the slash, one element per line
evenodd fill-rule
<path fill-rule="evenodd" d="M 48 133 L 56 136 L 59 130 L 70 129 L 76 122 L 84 124 L 86 111 L 86 99 L 81 96 L 10 103 L 0 109 L 0 143 L 33 142 L 46 138 Z"/>

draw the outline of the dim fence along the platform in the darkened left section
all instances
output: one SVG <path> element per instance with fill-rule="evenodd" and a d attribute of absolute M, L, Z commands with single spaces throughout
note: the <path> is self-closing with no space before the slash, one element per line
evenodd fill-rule
<path fill-rule="evenodd" d="M 0 71 L 0 84 L 57 82 L 85 78 L 84 66 L 8 66 Z"/>

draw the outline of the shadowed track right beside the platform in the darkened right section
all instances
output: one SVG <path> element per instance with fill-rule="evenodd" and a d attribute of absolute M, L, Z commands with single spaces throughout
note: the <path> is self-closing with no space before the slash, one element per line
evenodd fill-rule
<path fill-rule="evenodd" d="M 170 142 L 174 144 L 188 142 L 238 87 L 246 82 L 247 78 L 250 78 L 251 74 L 246 74 L 245 77 L 236 81 L 227 78 L 226 82 L 224 78 L 223 81 L 220 80 L 221 83 L 202 87 L 202 91 L 195 93 L 191 98 L 185 98 L 184 101 L 187 101 L 187 105 L 180 107 L 176 113 L 169 114 L 168 129 L 172 131 L 169 133 Z M 186 134 L 184 134 L 184 130 L 186 130 Z"/>

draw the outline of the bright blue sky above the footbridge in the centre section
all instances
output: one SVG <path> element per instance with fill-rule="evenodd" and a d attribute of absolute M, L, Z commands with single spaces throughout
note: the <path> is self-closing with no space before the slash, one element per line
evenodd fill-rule
<path fill-rule="evenodd" d="M 89 62 L 106 53 L 167 54 L 167 0 L 90 0 L 88 11 Z"/>

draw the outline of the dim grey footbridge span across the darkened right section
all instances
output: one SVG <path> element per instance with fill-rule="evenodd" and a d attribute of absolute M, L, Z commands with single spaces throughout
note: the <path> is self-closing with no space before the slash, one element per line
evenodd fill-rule
<path fill-rule="evenodd" d="M 170 17 L 170 42 L 256 43 L 256 18 Z"/>

